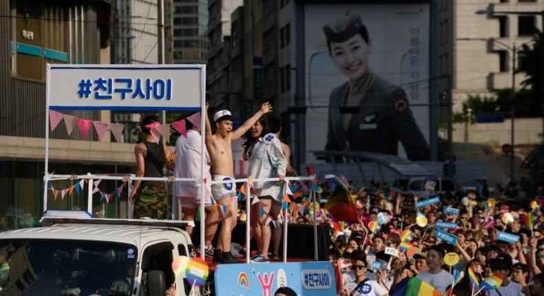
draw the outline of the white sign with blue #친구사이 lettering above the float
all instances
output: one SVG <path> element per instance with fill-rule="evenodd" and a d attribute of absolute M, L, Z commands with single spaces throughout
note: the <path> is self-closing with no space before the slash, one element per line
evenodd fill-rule
<path fill-rule="evenodd" d="M 200 110 L 205 65 L 51 65 L 50 109 Z"/>

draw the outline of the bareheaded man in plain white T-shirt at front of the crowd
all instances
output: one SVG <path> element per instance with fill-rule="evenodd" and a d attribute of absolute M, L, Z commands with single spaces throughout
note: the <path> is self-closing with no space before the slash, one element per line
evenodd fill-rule
<path fill-rule="evenodd" d="M 453 276 L 442 269 L 445 255 L 446 251 L 441 246 L 430 246 L 427 251 L 427 266 L 429 269 L 416 275 L 418 279 L 427 282 L 442 294 L 446 294 L 446 288 L 453 283 Z"/>

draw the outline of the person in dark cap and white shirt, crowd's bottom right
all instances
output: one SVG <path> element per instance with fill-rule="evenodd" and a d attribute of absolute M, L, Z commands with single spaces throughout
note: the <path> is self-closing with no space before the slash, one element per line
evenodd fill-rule
<path fill-rule="evenodd" d="M 521 290 L 523 287 L 512 282 L 510 275 L 512 274 L 512 257 L 506 254 L 499 254 L 489 262 L 491 271 L 494 275 L 503 277 L 503 282 L 499 288 L 490 290 L 490 296 L 525 296 Z"/>

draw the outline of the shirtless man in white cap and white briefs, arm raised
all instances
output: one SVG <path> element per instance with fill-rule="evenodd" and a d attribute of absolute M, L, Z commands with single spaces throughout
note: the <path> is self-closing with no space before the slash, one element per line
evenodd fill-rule
<path fill-rule="evenodd" d="M 213 181 L 234 180 L 232 142 L 241 138 L 261 116 L 271 111 L 270 103 L 262 104 L 261 109 L 235 131 L 232 130 L 231 112 L 228 110 L 218 111 L 213 115 L 213 121 L 216 123 L 216 134 L 211 134 L 211 125 L 208 116 L 206 116 L 206 147 L 211 158 L 211 168 L 214 174 L 212 176 Z M 221 207 L 227 207 L 225 211 L 222 209 L 219 211 L 222 223 L 213 262 L 238 263 L 231 254 L 231 232 L 236 226 L 236 215 L 238 213 L 236 184 L 234 182 L 212 184 L 211 195 Z"/>

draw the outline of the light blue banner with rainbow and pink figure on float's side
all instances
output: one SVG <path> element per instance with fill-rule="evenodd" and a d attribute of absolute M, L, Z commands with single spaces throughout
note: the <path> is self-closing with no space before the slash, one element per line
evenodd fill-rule
<path fill-rule="evenodd" d="M 284 285 L 297 295 L 336 295 L 330 262 L 219 264 L 215 279 L 218 296 L 274 295 L 275 290 Z"/>

